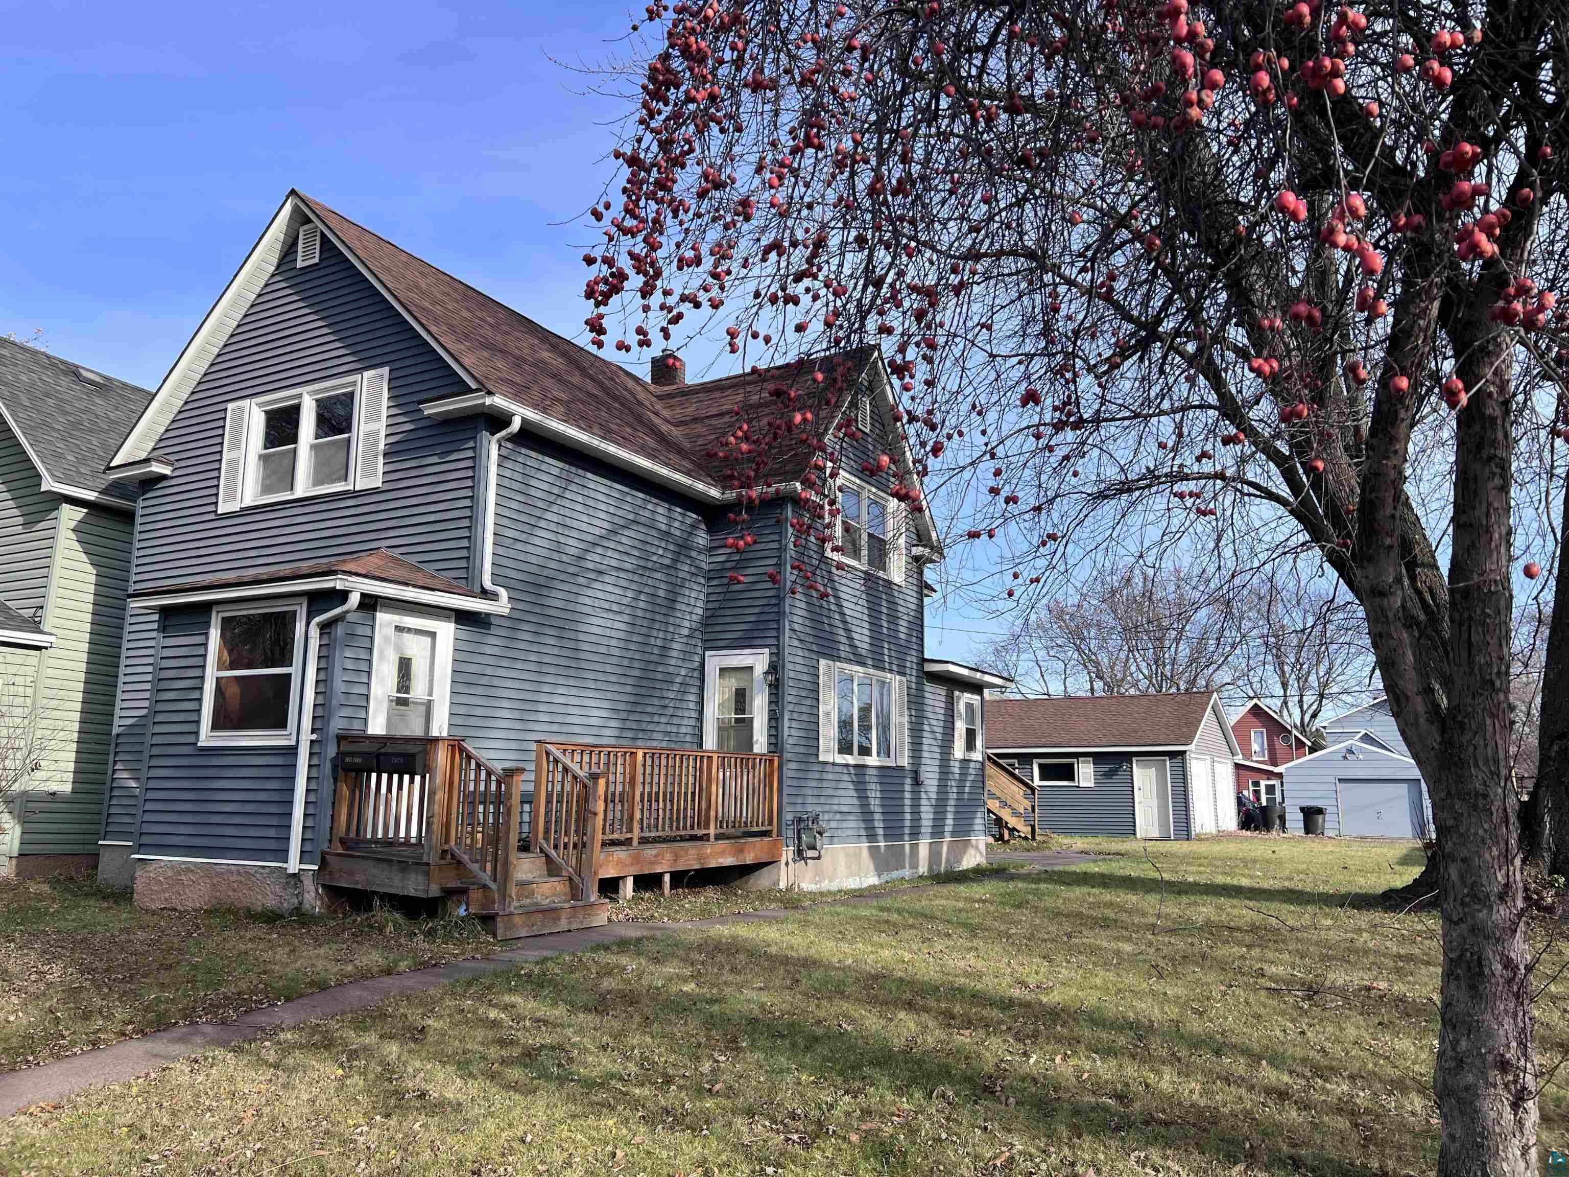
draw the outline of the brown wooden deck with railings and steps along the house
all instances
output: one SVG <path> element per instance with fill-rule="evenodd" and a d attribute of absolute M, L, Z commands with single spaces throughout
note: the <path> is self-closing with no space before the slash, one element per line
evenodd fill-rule
<path fill-rule="evenodd" d="M 602 924 L 602 879 L 783 858 L 778 760 L 693 749 L 537 745 L 521 767 L 458 738 L 342 733 L 319 880 L 447 898 L 497 937 Z M 519 818 L 530 803 L 522 835 Z"/>

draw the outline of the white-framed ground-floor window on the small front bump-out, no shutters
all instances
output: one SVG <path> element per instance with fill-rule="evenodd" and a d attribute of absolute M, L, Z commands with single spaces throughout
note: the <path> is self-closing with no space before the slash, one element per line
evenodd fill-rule
<path fill-rule="evenodd" d="M 293 742 L 303 620 L 303 601 L 212 610 L 202 742 Z"/>

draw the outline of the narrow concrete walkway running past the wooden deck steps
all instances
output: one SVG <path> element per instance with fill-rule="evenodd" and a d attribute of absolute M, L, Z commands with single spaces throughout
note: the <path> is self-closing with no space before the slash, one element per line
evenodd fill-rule
<path fill-rule="evenodd" d="M 1003 855 L 996 855 L 1003 857 Z M 1042 862 L 1034 862 L 1034 860 Z M 1047 862 L 1050 860 L 1050 862 Z M 1048 869 L 1067 866 L 1073 862 L 1089 862 L 1092 855 L 1054 852 L 1054 854 L 1018 854 L 1007 855 L 1007 862 L 1020 863 L 1026 869 Z M 938 887 L 941 884 L 930 884 Z M 849 895 L 843 899 L 825 898 L 824 902 L 869 904 L 924 891 L 930 887 L 908 887 L 896 891 L 872 891 L 869 895 Z M 761 912 L 742 912 L 739 915 L 720 915 L 709 920 L 690 920 L 686 923 L 615 923 L 604 927 L 582 927 L 574 932 L 552 932 L 535 935 L 493 956 L 471 960 L 455 960 L 450 965 L 433 968 L 417 968 L 411 973 L 394 973 L 391 976 L 373 976 L 366 981 L 350 981 L 333 989 L 323 989 L 308 997 L 284 1001 L 276 1006 L 262 1006 L 248 1014 L 242 1014 L 234 1022 L 201 1022 L 188 1026 L 171 1026 L 157 1029 L 143 1037 L 116 1042 L 102 1050 L 88 1050 L 82 1055 L 71 1055 L 56 1062 L 46 1062 L 41 1067 L 13 1070 L 0 1075 L 0 1116 L 13 1116 L 22 1108 L 35 1103 L 58 1102 L 75 1095 L 86 1088 L 97 1088 L 108 1083 L 122 1083 L 144 1075 L 149 1070 L 176 1062 L 190 1055 L 217 1047 L 232 1047 L 237 1042 L 249 1042 L 262 1034 L 298 1026 L 303 1022 L 348 1014 L 366 1006 L 373 1006 L 389 997 L 402 993 L 417 993 L 435 989 L 447 981 L 461 981 L 471 976 L 499 973 L 518 965 L 544 960 L 566 953 L 582 953 L 590 948 L 617 945 L 624 940 L 643 940 L 650 935 L 665 935 L 686 927 L 726 927 L 731 924 L 755 923 L 759 920 L 781 920 L 794 912 L 806 909 L 770 907 Z"/>

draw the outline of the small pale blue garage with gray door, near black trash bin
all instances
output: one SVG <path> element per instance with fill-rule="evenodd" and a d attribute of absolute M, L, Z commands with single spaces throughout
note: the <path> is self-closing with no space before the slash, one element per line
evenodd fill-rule
<path fill-rule="evenodd" d="M 1324 833 L 1345 838 L 1420 838 L 1431 827 L 1422 774 L 1367 733 L 1340 736 L 1287 764 L 1287 825 L 1302 832 L 1302 805 L 1324 807 Z"/>

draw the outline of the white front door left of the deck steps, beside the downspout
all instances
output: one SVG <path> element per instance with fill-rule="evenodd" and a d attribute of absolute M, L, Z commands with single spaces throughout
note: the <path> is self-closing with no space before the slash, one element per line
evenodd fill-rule
<path fill-rule="evenodd" d="M 366 728 L 386 736 L 444 736 L 450 692 L 452 614 L 383 603 Z"/>

